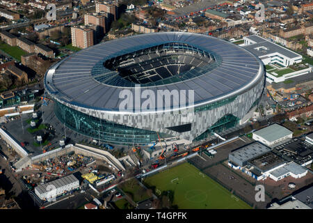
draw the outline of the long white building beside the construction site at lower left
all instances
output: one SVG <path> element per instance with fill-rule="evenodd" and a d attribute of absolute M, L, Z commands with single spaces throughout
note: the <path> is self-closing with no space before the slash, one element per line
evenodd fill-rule
<path fill-rule="evenodd" d="M 79 180 L 71 174 L 49 183 L 38 185 L 35 187 L 35 194 L 42 199 L 42 201 L 46 201 L 77 188 L 79 188 Z"/>

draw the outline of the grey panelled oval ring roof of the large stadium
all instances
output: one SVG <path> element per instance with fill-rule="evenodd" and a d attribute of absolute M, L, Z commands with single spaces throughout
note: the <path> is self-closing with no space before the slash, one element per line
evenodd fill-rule
<path fill-rule="evenodd" d="M 134 87 L 97 81 L 92 75 L 95 66 L 106 58 L 165 43 L 185 43 L 217 55 L 218 66 L 180 82 L 143 86 L 142 91 L 149 89 L 157 95 L 158 90 L 194 90 L 194 105 L 205 105 L 239 95 L 264 76 L 263 64 L 256 56 L 225 40 L 196 33 L 149 33 L 99 43 L 68 56 L 47 71 L 45 89 L 61 102 L 89 109 L 118 111 L 118 105 L 124 100 L 119 98 L 120 91 L 130 89 L 135 94 Z M 113 75 L 115 71 L 111 72 Z"/>

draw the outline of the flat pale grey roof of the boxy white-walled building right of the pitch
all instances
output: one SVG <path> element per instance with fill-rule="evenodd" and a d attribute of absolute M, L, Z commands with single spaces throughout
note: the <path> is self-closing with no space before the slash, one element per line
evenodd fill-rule
<path fill-rule="evenodd" d="M 284 128 L 282 125 L 278 125 L 276 123 L 274 123 L 273 125 L 268 125 L 266 128 L 262 128 L 261 130 L 253 132 L 253 134 L 262 137 L 263 139 L 266 139 L 266 141 L 269 142 L 281 139 L 282 137 L 285 137 L 292 133 L 293 132 L 291 132 L 287 128 Z"/>

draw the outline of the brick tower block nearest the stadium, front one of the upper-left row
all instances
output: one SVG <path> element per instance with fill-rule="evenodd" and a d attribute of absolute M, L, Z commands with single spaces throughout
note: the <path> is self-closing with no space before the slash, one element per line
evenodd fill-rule
<path fill-rule="evenodd" d="M 94 29 L 91 29 L 90 26 L 72 26 L 72 46 L 87 48 L 94 45 Z"/>

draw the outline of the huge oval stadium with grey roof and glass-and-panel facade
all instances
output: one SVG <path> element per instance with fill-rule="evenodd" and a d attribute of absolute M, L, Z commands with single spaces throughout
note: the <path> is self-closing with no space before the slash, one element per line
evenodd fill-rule
<path fill-rule="evenodd" d="M 68 128 L 110 144 L 146 145 L 159 137 L 199 141 L 234 127 L 258 102 L 264 79 L 262 61 L 225 40 L 149 33 L 68 56 L 49 68 L 45 90 Z"/>

